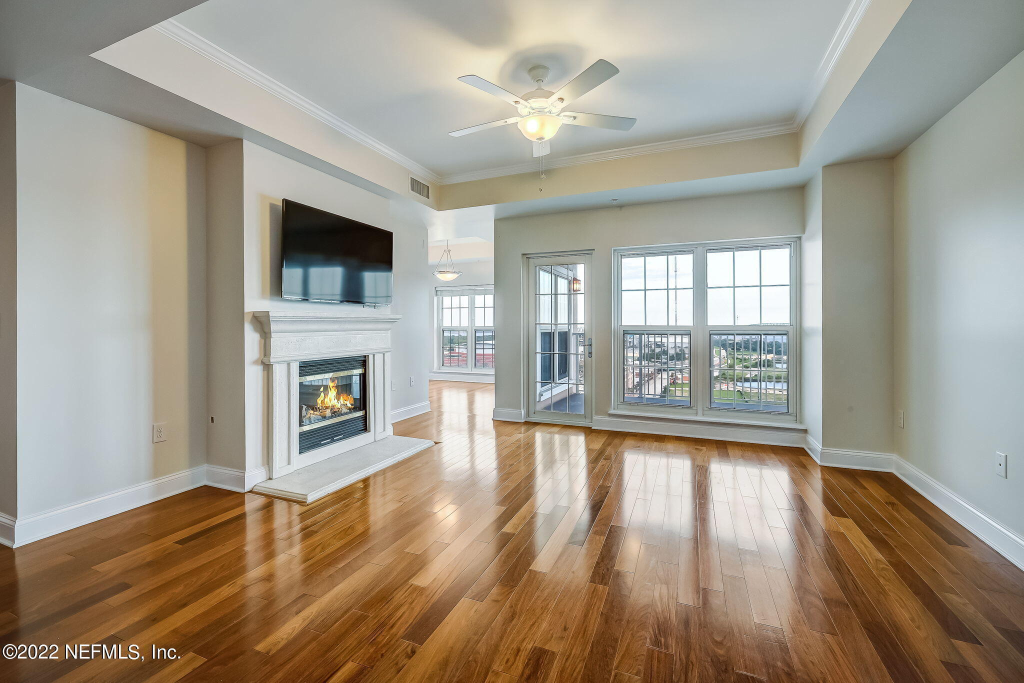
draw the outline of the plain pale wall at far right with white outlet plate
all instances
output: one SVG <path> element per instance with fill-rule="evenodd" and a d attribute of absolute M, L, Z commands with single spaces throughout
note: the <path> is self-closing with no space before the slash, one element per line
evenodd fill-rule
<path fill-rule="evenodd" d="M 1024 533 L 1024 54 L 896 159 L 899 455 Z M 1009 455 L 995 474 L 995 452 Z"/>

